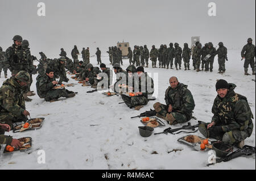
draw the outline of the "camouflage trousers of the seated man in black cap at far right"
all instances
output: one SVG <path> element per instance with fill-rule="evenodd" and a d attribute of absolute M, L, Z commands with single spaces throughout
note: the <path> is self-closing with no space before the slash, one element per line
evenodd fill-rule
<path fill-rule="evenodd" d="M 210 123 L 202 123 L 202 124 L 204 124 L 205 127 L 207 128 L 207 125 Z M 221 126 L 221 125 L 216 125 L 216 126 Z M 211 131 L 211 129 L 208 129 L 208 130 L 209 130 L 210 138 L 221 140 L 229 145 L 238 144 L 242 140 L 245 140 L 245 138 L 250 137 L 251 135 L 251 133 L 248 133 L 246 131 L 238 131 L 238 130 L 233 130 L 229 132 L 218 132 L 218 133 Z"/>

